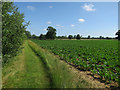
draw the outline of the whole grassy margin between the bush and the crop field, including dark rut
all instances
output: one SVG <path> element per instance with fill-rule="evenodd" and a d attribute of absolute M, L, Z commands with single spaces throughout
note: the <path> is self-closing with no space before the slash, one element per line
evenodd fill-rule
<path fill-rule="evenodd" d="M 4 68 L 3 88 L 106 87 L 32 41 L 26 41 L 22 54 Z"/>

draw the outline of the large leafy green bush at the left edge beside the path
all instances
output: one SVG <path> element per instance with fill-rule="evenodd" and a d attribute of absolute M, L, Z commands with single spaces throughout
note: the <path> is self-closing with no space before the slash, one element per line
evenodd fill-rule
<path fill-rule="evenodd" d="M 12 2 L 2 3 L 2 54 L 3 62 L 17 55 L 25 38 L 24 14 Z"/>

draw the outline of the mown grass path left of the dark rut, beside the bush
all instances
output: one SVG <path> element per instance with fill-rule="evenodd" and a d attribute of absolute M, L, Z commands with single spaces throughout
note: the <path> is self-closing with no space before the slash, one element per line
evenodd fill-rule
<path fill-rule="evenodd" d="M 3 87 L 51 87 L 42 61 L 26 42 L 22 54 L 3 69 Z"/>

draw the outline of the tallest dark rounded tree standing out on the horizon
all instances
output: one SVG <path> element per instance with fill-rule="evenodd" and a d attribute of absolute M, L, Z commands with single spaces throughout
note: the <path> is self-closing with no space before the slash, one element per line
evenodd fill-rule
<path fill-rule="evenodd" d="M 46 34 L 47 39 L 55 39 L 56 38 L 56 29 L 55 28 L 49 26 L 47 28 L 47 31 L 48 31 Z"/>

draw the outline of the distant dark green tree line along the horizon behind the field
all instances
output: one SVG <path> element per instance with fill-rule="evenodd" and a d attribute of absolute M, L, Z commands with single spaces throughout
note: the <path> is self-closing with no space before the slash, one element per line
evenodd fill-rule
<path fill-rule="evenodd" d="M 26 31 L 26 35 L 29 39 L 39 39 L 39 40 L 46 40 L 46 39 L 120 39 L 120 30 L 115 34 L 118 35 L 118 37 L 115 38 L 111 38 L 111 37 L 103 37 L 103 36 L 99 36 L 99 37 L 91 37 L 90 35 L 88 35 L 88 37 L 82 37 L 82 35 L 77 34 L 77 35 L 68 35 L 68 36 L 56 36 L 56 29 L 49 26 L 47 28 L 47 33 L 46 34 L 40 34 L 40 36 L 36 36 L 35 34 L 31 35 L 31 33 L 29 31 Z"/>

